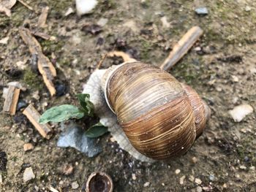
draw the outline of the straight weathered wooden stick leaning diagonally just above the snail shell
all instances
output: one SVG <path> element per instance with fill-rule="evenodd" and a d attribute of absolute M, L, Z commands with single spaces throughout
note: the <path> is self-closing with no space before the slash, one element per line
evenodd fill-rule
<path fill-rule="evenodd" d="M 171 69 L 188 52 L 202 34 L 203 30 L 200 27 L 195 26 L 190 28 L 187 34 L 174 45 L 173 50 L 160 66 L 160 69 L 164 69 L 165 71 Z"/>

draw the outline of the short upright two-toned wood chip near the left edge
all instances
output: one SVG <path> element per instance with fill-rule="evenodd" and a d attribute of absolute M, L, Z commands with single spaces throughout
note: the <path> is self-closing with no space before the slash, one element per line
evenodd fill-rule
<path fill-rule="evenodd" d="M 4 112 L 10 113 L 10 115 L 15 115 L 19 95 L 20 88 L 16 88 L 15 86 L 9 86 L 4 101 Z"/>

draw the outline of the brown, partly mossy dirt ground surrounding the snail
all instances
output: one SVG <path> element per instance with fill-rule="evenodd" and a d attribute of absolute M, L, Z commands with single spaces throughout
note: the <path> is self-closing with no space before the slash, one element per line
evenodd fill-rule
<path fill-rule="evenodd" d="M 149 164 L 121 150 L 110 141 L 110 134 L 98 141 L 102 153 L 88 158 L 78 150 L 56 146 L 59 126 L 47 140 L 22 110 L 12 117 L 1 112 L 0 152 L 7 154 L 7 169 L 0 167 L 0 191 L 50 191 L 50 186 L 59 191 L 83 191 L 86 178 L 96 170 L 110 174 L 114 191 L 256 191 L 255 0 L 101 0 L 94 12 L 80 18 L 75 13 L 64 16 L 69 7 L 75 9 L 74 1 L 26 2 L 34 11 L 17 2 L 10 18 L 0 14 L 0 39 L 10 37 L 7 45 L 0 46 L 0 94 L 7 82 L 20 81 L 28 88 L 20 93 L 19 101 L 34 104 L 39 112 L 57 104 L 78 104 L 75 93 L 83 91 L 83 84 L 108 51 L 123 50 L 157 66 L 189 28 L 200 26 L 203 37 L 170 73 L 195 88 L 212 115 L 206 131 L 186 155 Z M 37 29 L 46 5 L 50 7 L 47 26 L 39 31 L 57 39 L 37 39 L 56 66 L 56 85 L 67 88 L 64 96 L 53 98 L 32 69 L 31 54 L 18 33 L 20 26 Z M 200 6 L 207 7 L 208 15 L 195 14 Z M 169 24 L 163 25 L 163 17 Z M 99 28 L 102 31 L 92 31 L 88 26 L 101 18 L 107 18 L 108 23 Z M 102 67 L 120 62 L 107 59 Z M 235 123 L 228 110 L 244 103 L 255 110 Z M 1 98 L 0 110 L 3 104 Z M 26 142 L 31 142 L 34 150 L 24 152 Z M 4 155 L 0 158 L 6 161 Z M 64 174 L 67 165 L 74 167 L 69 175 Z M 28 166 L 36 177 L 24 183 L 23 172 Z M 72 189 L 74 182 L 78 182 L 78 189 Z"/>

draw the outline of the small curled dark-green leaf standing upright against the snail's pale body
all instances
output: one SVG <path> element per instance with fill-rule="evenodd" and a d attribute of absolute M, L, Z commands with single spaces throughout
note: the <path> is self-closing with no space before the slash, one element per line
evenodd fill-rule
<path fill-rule="evenodd" d="M 83 110 L 86 112 L 86 115 L 92 117 L 94 115 L 94 104 L 90 101 L 90 95 L 86 93 L 78 93 L 76 96 L 78 97 Z"/>

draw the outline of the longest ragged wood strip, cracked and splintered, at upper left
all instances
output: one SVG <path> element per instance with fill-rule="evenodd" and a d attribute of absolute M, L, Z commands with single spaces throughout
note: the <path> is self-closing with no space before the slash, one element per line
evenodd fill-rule
<path fill-rule="evenodd" d="M 42 53 L 42 47 L 39 45 L 39 42 L 37 42 L 37 39 L 32 36 L 31 31 L 29 31 L 28 28 L 20 28 L 19 32 L 23 41 L 29 46 L 31 55 L 35 54 L 38 56 L 37 67 L 39 72 L 42 74 L 42 78 L 50 91 L 50 95 L 55 95 L 56 89 L 53 85 L 53 78 L 56 77 L 56 69 L 53 64 L 50 63 L 49 58 Z"/>

